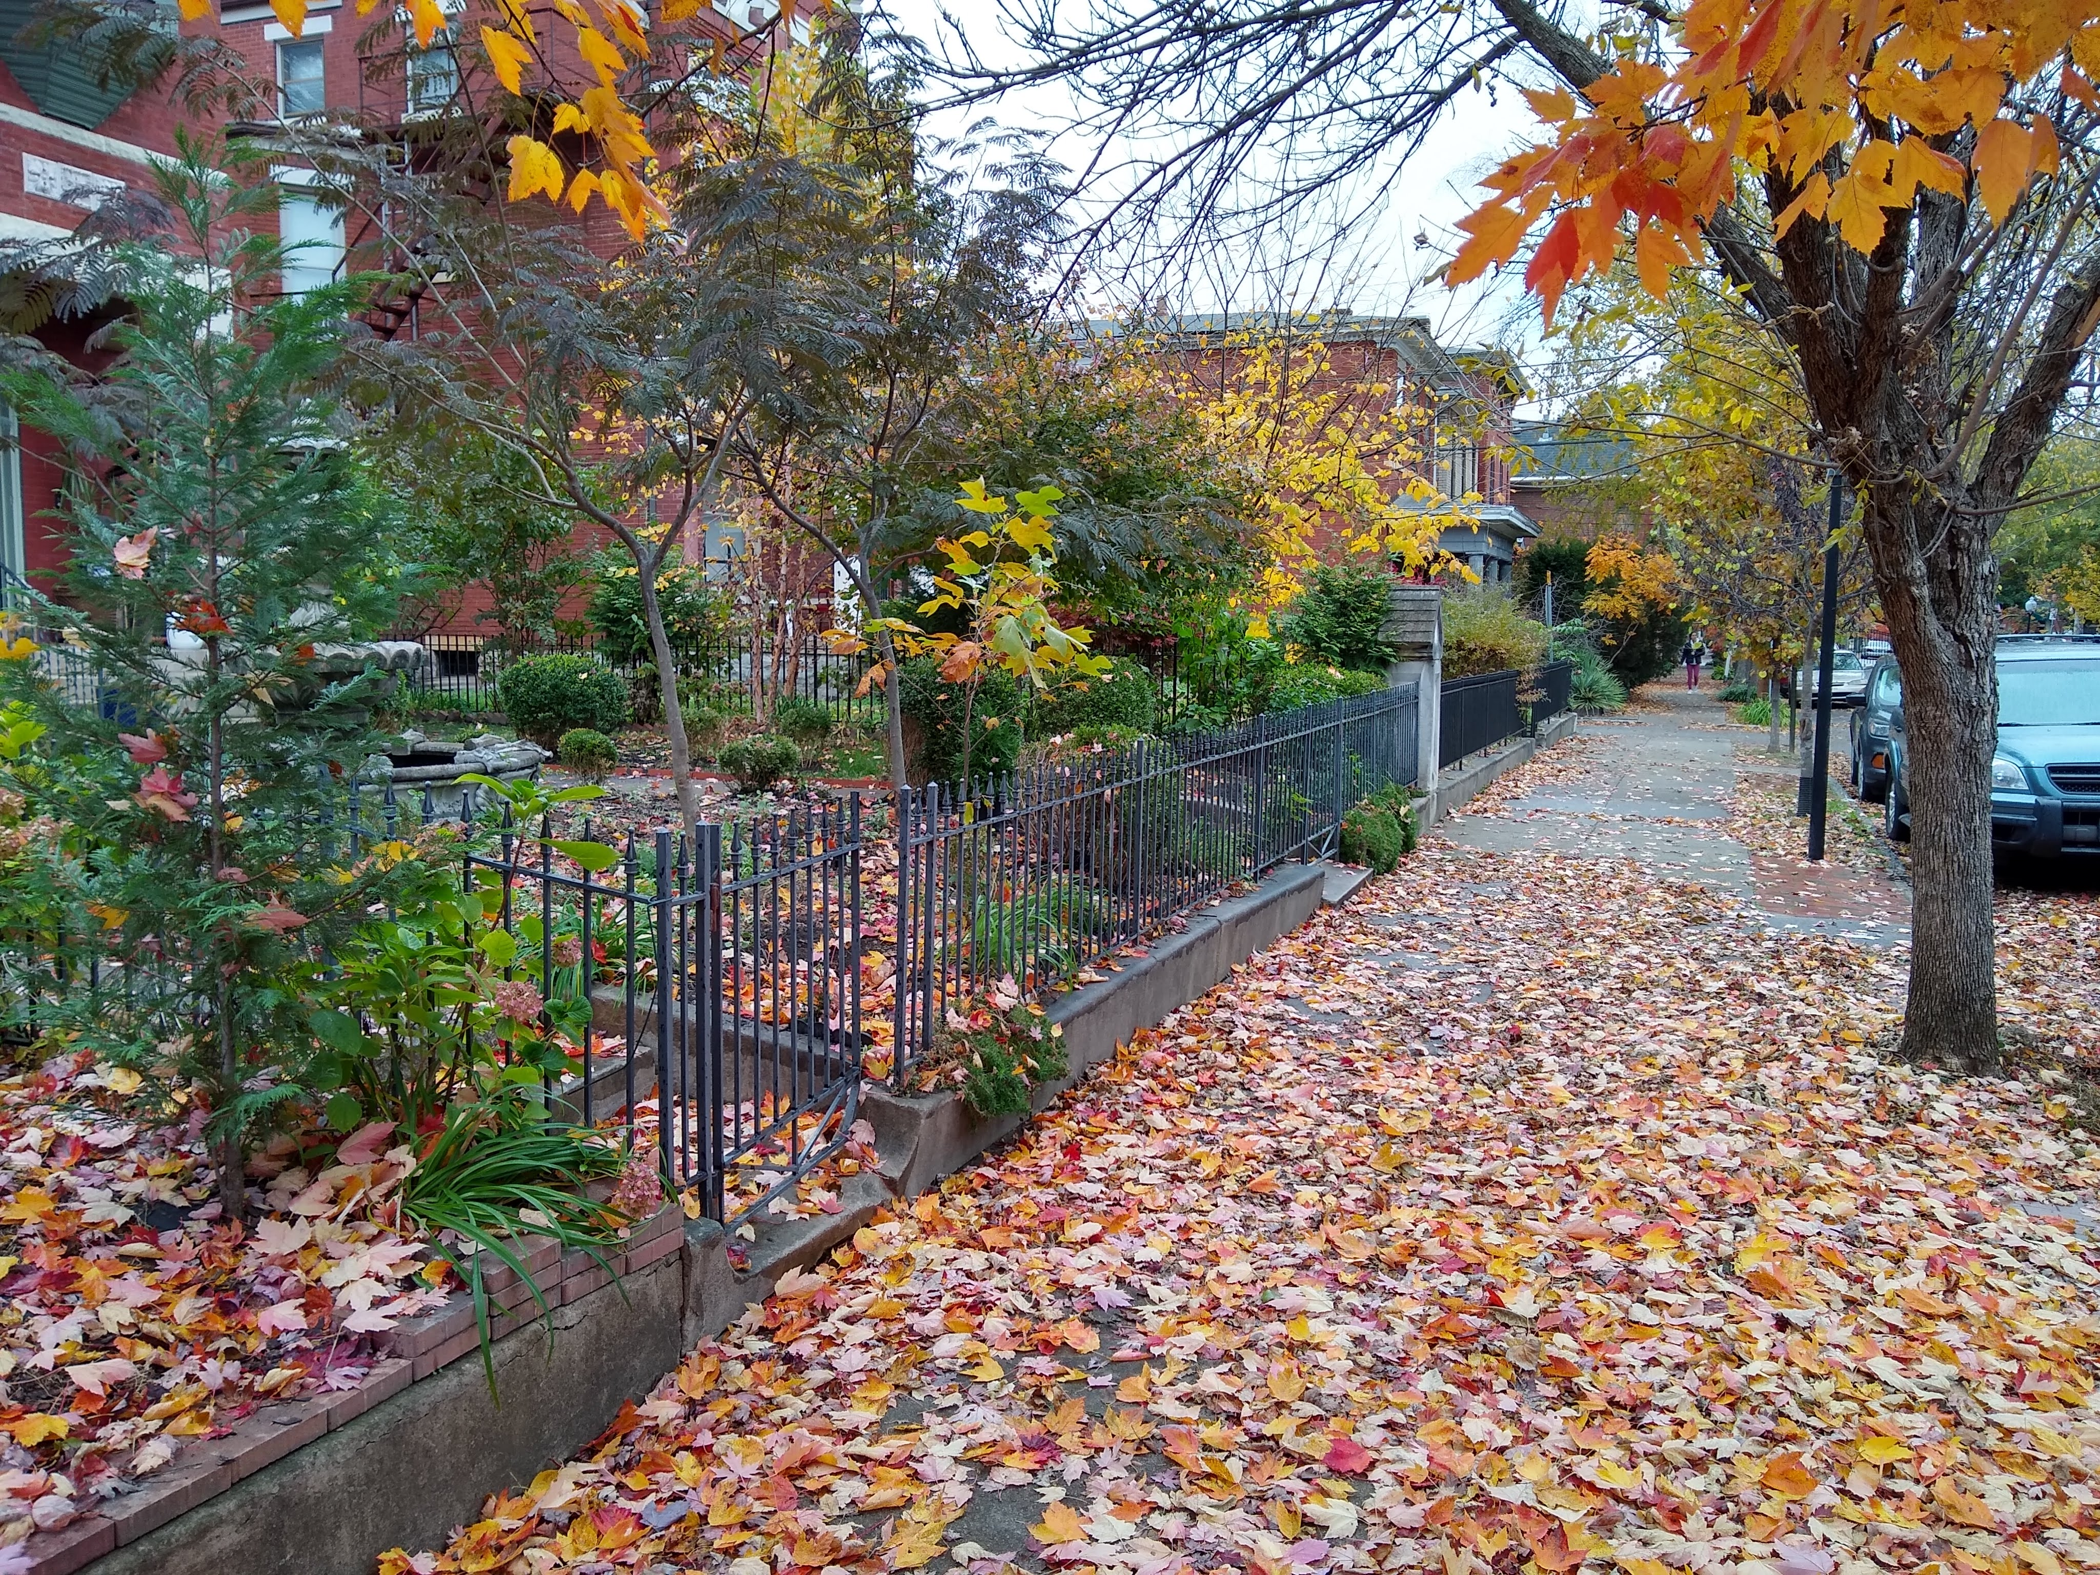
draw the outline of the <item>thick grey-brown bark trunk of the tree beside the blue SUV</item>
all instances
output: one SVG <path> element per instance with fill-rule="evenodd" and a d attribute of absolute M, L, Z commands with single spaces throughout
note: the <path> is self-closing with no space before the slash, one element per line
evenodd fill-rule
<path fill-rule="evenodd" d="M 1867 489 L 1865 536 L 1903 668 L 1911 811 L 1905 1060 L 1995 1071 L 1991 754 L 1997 750 L 1997 563 L 1989 521 Z M 1936 544 L 1924 550 L 1919 544 Z"/>

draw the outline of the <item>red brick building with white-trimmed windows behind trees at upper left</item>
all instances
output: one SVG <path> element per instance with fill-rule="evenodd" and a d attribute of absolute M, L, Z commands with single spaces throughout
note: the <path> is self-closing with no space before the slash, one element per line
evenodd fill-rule
<path fill-rule="evenodd" d="M 441 0 L 456 19 L 449 36 L 479 32 L 485 0 Z M 536 6 L 538 8 L 538 6 Z M 649 4 L 655 10 L 655 4 Z M 706 0 L 699 25 L 752 59 L 790 38 L 806 42 L 821 0 Z M 71 46 L 34 46 L 23 29 L 36 0 L 0 0 L 0 248 L 69 235 L 86 212 L 126 187 L 143 189 L 155 155 L 172 155 L 183 107 L 160 88 L 126 94 L 101 88 L 92 63 Z M 407 145 L 420 122 L 447 113 L 462 99 L 462 74 L 485 63 L 456 55 L 447 34 L 418 50 L 386 10 L 359 17 L 344 0 L 307 0 L 298 38 L 265 0 L 220 0 L 214 15 L 181 23 L 185 34 L 214 38 L 246 61 L 250 103 L 233 120 L 250 136 L 300 118 L 353 120 L 365 136 Z M 556 29 L 546 29 L 550 36 Z M 475 50 L 479 55 L 479 48 Z M 279 235 L 298 244 L 284 288 L 300 290 L 336 277 L 349 256 L 378 237 L 361 220 L 302 195 L 302 160 L 277 166 L 284 197 Z M 617 220 L 592 204 L 590 235 L 605 248 L 626 244 Z M 372 260 L 363 260 L 365 267 Z M 97 321 L 50 321 L 38 330 L 52 349 L 80 357 Z M 405 332 L 414 332 L 405 326 Z M 8 575 L 50 584 L 65 544 L 42 514 L 57 498 L 59 470 L 38 433 L 13 441 L 15 418 L 0 405 L 0 584 Z"/>

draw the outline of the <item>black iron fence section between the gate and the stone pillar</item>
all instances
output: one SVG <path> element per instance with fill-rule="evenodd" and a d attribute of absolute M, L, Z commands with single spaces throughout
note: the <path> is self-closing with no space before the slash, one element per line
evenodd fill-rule
<path fill-rule="evenodd" d="M 1413 685 L 1119 752 L 1079 752 L 968 790 L 907 790 L 897 815 L 890 1037 L 903 1084 L 947 1008 L 1025 993 L 1294 859 L 1415 781 Z"/>

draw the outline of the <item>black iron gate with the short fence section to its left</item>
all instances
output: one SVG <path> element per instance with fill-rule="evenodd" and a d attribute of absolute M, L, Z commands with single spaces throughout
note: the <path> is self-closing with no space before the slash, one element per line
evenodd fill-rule
<path fill-rule="evenodd" d="M 588 1021 L 565 1115 L 649 1134 L 716 1220 L 836 1151 L 861 1086 L 861 800 L 628 834 L 592 872 L 554 825 L 466 857 L 552 1021 Z M 580 840 L 590 840 L 586 821 Z M 487 901 L 487 899 L 485 899 Z"/>

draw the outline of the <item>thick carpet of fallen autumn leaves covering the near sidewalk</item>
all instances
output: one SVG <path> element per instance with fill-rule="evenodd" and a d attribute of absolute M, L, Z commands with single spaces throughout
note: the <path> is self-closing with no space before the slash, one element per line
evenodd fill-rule
<path fill-rule="evenodd" d="M 1430 842 L 382 1569 L 2100 1564 L 2096 1151 L 1875 1060 L 1898 983 Z"/>

